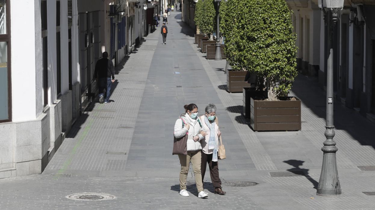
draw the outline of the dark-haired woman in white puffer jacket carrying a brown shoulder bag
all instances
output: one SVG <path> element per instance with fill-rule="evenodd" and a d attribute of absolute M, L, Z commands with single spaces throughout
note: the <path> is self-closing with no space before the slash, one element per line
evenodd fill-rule
<path fill-rule="evenodd" d="M 186 191 L 186 179 L 189 172 L 190 162 L 193 165 L 196 189 L 198 189 L 199 198 L 207 198 L 208 194 L 203 191 L 202 174 L 201 174 L 201 150 L 200 141 L 204 136 L 202 123 L 197 117 L 198 107 L 195 104 L 184 106 L 185 113 L 176 120 L 174 124 L 174 137 L 181 138 L 187 134 L 187 155 L 178 154 L 180 159 L 180 195 L 189 196 Z"/>

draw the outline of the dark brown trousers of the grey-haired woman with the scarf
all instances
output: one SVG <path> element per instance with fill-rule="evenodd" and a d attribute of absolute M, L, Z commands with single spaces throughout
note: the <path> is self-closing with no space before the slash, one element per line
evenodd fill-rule
<path fill-rule="evenodd" d="M 217 166 L 218 162 L 212 161 L 212 154 L 205 154 L 202 152 L 202 163 L 201 163 L 201 171 L 202 171 L 202 182 L 204 178 L 204 174 L 206 173 L 206 167 L 210 168 L 210 175 L 211 175 L 211 181 L 212 185 L 217 188 L 221 188 L 221 180 L 219 177 L 219 166 Z"/>

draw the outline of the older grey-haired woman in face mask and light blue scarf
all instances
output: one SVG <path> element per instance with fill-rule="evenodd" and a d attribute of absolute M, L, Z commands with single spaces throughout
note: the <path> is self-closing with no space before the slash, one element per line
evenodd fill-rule
<path fill-rule="evenodd" d="M 224 192 L 221 189 L 221 180 L 219 177 L 219 167 L 217 164 L 217 151 L 219 148 L 219 137 L 221 132 L 219 130 L 218 122 L 216 116 L 216 106 L 214 104 L 208 104 L 205 108 L 205 113 L 201 117 L 202 126 L 206 136 L 201 141 L 202 145 L 202 163 L 201 163 L 201 173 L 202 173 L 202 182 L 204 174 L 208 167 L 210 168 L 211 181 L 215 187 L 215 194 L 224 195 Z"/>

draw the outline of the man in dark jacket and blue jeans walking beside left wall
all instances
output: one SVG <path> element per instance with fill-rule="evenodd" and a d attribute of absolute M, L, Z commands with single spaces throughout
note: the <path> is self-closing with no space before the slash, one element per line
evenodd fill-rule
<path fill-rule="evenodd" d="M 108 52 L 103 52 L 103 58 L 96 62 L 94 75 L 99 86 L 99 103 L 108 104 L 111 86 L 115 81 L 114 66 L 112 61 L 108 59 Z M 103 93 L 104 90 L 105 93 Z"/>

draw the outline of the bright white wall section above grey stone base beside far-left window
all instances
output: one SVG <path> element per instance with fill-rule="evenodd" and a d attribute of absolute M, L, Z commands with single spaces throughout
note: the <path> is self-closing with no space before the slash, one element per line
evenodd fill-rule
<path fill-rule="evenodd" d="M 40 2 L 34 0 L 12 1 L 10 13 L 17 14 L 12 15 L 10 20 L 12 33 L 12 120 L 14 122 L 34 120 L 42 112 L 43 103 L 42 62 L 36 62 L 36 60 L 42 60 Z M 22 26 L 22 33 L 20 33 L 20 26 Z"/>

